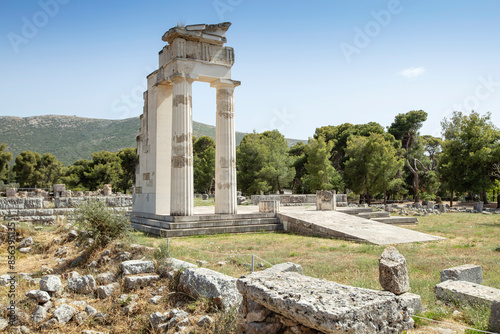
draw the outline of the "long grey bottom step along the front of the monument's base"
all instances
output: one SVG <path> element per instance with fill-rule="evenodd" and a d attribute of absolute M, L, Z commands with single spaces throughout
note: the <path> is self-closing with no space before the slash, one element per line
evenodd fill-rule
<path fill-rule="evenodd" d="M 163 229 L 159 227 L 148 226 L 138 223 L 131 223 L 130 225 L 138 231 L 159 235 L 161 237 L 186 237 L 192 235 L 211 235 L 211 234 L 221 234 L 221 233 L 275 232 L 283 230 L 283 225 L 279 223 L 187 228 L 187 229 L 174 229 L 174 230 Z"/>

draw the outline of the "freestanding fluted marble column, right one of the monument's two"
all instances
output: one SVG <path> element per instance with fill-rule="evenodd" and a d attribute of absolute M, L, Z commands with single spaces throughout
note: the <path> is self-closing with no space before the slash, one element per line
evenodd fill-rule
<path fill-rule="evenodd" d="M 219 79 L 215 133 L 215 213 L 237 213 L 236 137 L 234 129 L 234 88 L 239 81 Z"/>

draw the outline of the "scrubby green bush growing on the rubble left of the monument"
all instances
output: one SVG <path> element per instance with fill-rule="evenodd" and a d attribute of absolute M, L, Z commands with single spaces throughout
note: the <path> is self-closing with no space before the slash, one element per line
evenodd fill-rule
<path fill-rule="evenodd" d="M 96 248 L 105 247 L 111 241 L 128 235 L 128 218 L 107 207 L 104 202 L 82 203 L 76 208 L 75 215 L 78 227 L 92 236 Z"/>

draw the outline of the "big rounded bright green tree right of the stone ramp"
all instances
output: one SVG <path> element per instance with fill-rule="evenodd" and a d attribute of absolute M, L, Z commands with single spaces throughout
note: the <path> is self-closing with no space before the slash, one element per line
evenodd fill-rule
<path fill-rule="evenodd" d="M 347 186 L 359 194 L 366 194 L 368 202 L 377 193 L 387 193 L 400 185 L 396 176 L 404 162 L 393 143 L 383 135 L 353 136 L 347 143 L 345 179 Z M 386 199 L 386 196 L 384 196 Z"/>

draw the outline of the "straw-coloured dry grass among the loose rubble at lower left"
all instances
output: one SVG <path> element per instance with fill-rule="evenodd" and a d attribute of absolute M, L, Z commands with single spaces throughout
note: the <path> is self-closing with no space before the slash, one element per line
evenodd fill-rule
<path fill-rule="evenodd" d="M 17 230 L 19 234 L 22 237 L 32 236 L 35 244 L 32 246 L 32 253 L 16 254 L 15 271 L 18 273 L 34 273 L 33 277 L 36 278 L 49 273 L 47 272 L 48 268 L 52 268 L 54 270 L 54 274 L 62 275 L 63 285 L 66 285 L 66 276 L 64 274 L 73 270 L 77 271 L 81 275 L 93 274 L 96 276 L 98 273 L 106 271 L 119 274 L 119 262 L 102 260 L 102 253 L 105 250 L 110 251 L 109 258 L 114 258 L 118 255 L 118 253 L 123 251 L 132 253 L 132 258 L 134 259 L 140 259 L 144 256 L 153 257 L 152 254 L 154 252 L 130 247 L 131 240 L 122 240 L 109 245 L 106 249 L 93 251 L 84 262 L 73 268 L 70 266 L 72 260 L 81 255 L 84 250 L 81 246 L 77 246 L 79 242 L 78 239 L 68 240 L 65 238 L 68 233 L 68 229 L 65 228 L 65 224 L 66 222 L 61 220 L 57 225 L 44 227 L 41 231 L 35 231 L 33 226 L 30 224 L 18 224 Z M 55 241 L 57 239 L 60 241 Z M 67 254 L 64 255 L 64 258 L 66 258 L 67 261 L 59 263 L 56 259 L 55 253 L 62 247 L 66 247 L 68 250 Z M 7 244 L 5 242 L 0 243 L 0 275 L 7 272 L 7 255 Z M 91 268 L 88 266 L 88 264 L 92 261 L 96 261 L 98 263 L 97 268 Z M 121 282 L 121 280 L 118 280 L 118 282 Z M 30 315 L 36 308 L 36 302 L 25 297 L 25 293 L 27 291 L 38 289 L 38 284 L 29 284 L 28 281 L 23 279 L 17 279 L 17 283 L 18 286 L 16 287 L 15 301 L 19 309 L 24 312 L 24 316 L 20 316 L 19 318 L 23 321 L 23 324 L 27 325 L 32 330 L 32 332 L 36 333 L 81 333 L 84 329 L 120 334 L 154 333 L 155 331 L 151 328 L 149 322 L 149 315 L 154 312 L 165 313 L 172 308 L 178 308 L 188 312 L 193 319 L 192 325 L 196 325 L 196 321 L 205 314 L 210 314 L 215 319 L 219 316 L 217 311 L 211 307 L 207 300 L 194 300 L 183 293 L 177 293 L 172 290 L 170 282 L 166 278 L 162 278 L 160 281 L 157 281 L 148 287 L 131 292 L 125 291 L 122 285 L 120 287 L 120 291 L 118 291 L 114 296 L 104 300 L 97 299 L 94 294 L 82 295 L 65 291 L 62 297 L 68 300 L 67 303 L 70 301 L 85 301 L 87 305 L 94 307 L 98 312 L 107 313 L 106 320 L 98 322 L 95 319 L 87 318 L 80 324 L 77 324 L 75 321 L 71 321 L 56 328 L 43 330 L 34 326 L 30 320 Z M 158 292 L 160 288 L 162 288 L 162 291 Z M 118 302 L 117 297 L 122 293 L 137 294 L 138 298 L 134 301 L 128 300 L 124 303 Z M 153 293 L 162 295 L 162 299 L 158 305 L 149 302 L 149 299 L 153 297 Z M 7 287 L 0 287 L 0 310 L 6 307 L 9 301 L 10 299 L 8 297 Z M 55 301 L 55 306 L 57 306 L 58 303 L 60 302 Z M 133 307 L 133 311 L 126 313 L 123 307 L 130 305 L 131 303 L 136 303 Z M 78 311 L 83 311 L 83 309 L 78 309 Z M 2 314 L 2 316 L 7 315 Z M 49 318 L 50 315 L 47 319 Z M 199 334 L 210 333 L 211 331 L 212 329 L 210 328 L 196 329 L 196 333 Z"/>

